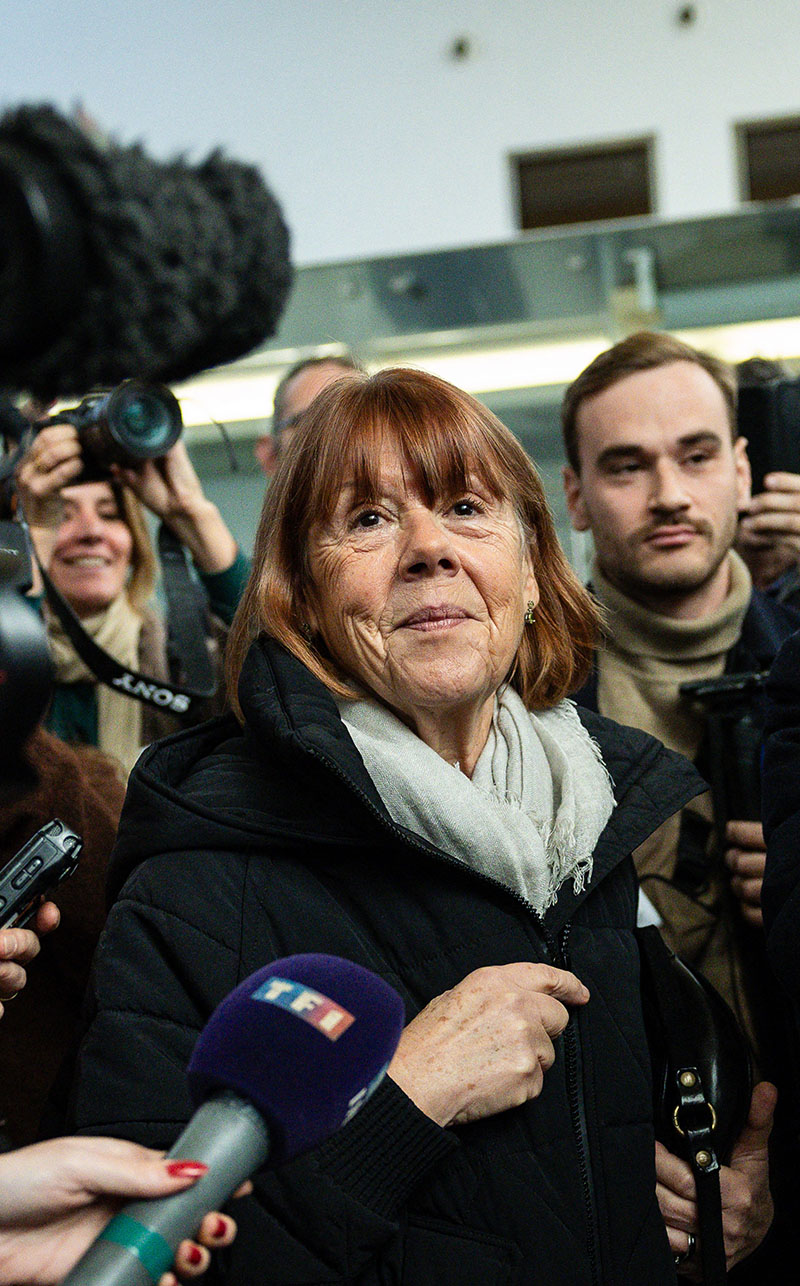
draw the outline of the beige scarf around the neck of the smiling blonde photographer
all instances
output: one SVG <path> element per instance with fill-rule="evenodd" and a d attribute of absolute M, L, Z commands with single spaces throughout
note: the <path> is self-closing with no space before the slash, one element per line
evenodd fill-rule
<path fill-rule="evenodd" d="M 127 778 L 141 751 L 141 706 L 114 688 L 98 683 L 72 647 L 58 617 L 46 608 L 45 612 L 55 682 L 96 684 L 98 746 L 120 761 Z M 139 667 L 141 616 L 134 611 L 125 594 L 118 594 L 103 612 L 84 617 L 81 625 L 98 647 L 109 652 L 121 665 L 131 670 Z"/>

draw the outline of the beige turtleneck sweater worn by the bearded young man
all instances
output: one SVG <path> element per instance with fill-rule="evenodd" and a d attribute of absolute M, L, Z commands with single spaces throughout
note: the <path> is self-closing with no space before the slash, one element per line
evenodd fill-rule
<path fill-rule="evenodd" d="M 740 637 L 751 594 L 747 567 L 734 552 L 731 585 L 722 607 L 702 620 L 673 620 L 633 602 L 595 566 L 592 588 L 606 616 L 598 653 L 598 707 L 617 723 L 642 728 L 671 750 L 695 759 L 704 732 L 702 712 L 680 697 L 682 683 L 722 675 L 725 656 Z M 713 846 L 711 799 L 684 810 Z M 634 854 L 642 889 L 662 918 L 674 950 L 696 964 L 738 1013 L 755 1051 L 752 1022 L 742 1002 L 741 964 L 731 926 L 722 914 L 719 862 L 707 889 L 696 896 L 674 887 L 680 814 L 670 818 Z"/>

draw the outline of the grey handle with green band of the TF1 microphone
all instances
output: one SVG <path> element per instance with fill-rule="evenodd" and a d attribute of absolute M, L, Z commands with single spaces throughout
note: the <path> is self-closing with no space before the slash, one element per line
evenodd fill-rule
<path fill-rule="evenodd" d="M 261 1114 L 230 1091 L 194 1112 L 167 1156 L 203 1161 L 208 1173 L 171 1196 L 131 1201 L 113 1217 L 62 1286 L 154 1286 L 184 1237 L 219 1210 L 264 1165 L 269 1130 Z"/>

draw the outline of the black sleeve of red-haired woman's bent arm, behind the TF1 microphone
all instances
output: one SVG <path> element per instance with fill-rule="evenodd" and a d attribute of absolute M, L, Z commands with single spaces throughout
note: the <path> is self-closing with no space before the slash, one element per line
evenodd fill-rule
<path fill-rule="evenodd" d="M 153 858 L 131 876 L 95 959 L 71 1128 L 174 1143 L 190 1115 L 185 1066 L 208 1015 L 279 954 L 266 916 L 257 962 L 243 958 L 241 936 L 220 934 L 242 923 L 246 907 L 252 919 L 248 878 L 247 860 L 205 854 Z M 385 1080 L 325 1145 L 256 1179 L 253 1196 L 235 1204 L 239 1235 L 216 1271 L 237 1286 L 262 1283 L 268 1264 L 269 1280 L 286 1283 L 356 1276 L 400 1229 L 412 1190 L 455 1146 Z"/>

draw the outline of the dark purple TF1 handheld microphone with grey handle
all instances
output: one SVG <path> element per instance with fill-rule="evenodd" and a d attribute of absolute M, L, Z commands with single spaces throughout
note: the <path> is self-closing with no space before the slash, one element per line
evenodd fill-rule
<path fill-rule="evenodd" d="M 241 983 L 194 1047 L 198 1106 L 168 1154 L 208 1173 L 184 1192 L 126 1205 L 63 1286 L 154 1286 L 183 1238 L 246 1178 L 355 1115 L 383 1079 L 403 1021 L 397 993 L 337 955 L 288 955 Z"/>

